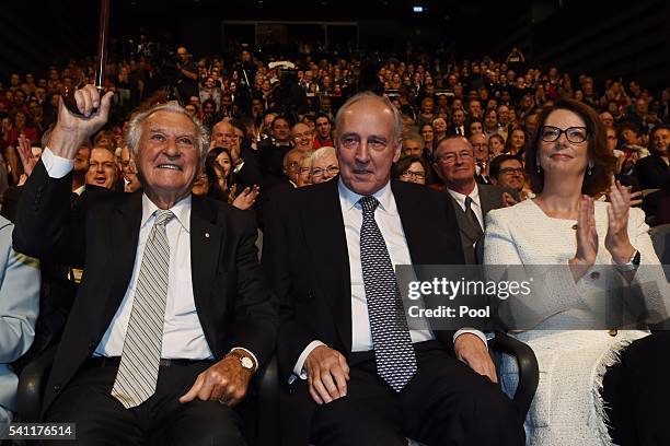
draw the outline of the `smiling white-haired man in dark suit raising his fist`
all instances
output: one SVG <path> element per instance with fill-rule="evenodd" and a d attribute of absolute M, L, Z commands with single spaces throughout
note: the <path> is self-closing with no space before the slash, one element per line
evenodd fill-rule
<path fill-rule="evenodd" d="M 111 97 L 78 91 L 84 118 L 61 104 L 19 208 L 19 251 L 84 269 L 43 418 L 77 423 L 82 444 L 244 444 L 232 407 L 276 330 L 253 216 L 192 197 L 208 138 L 174 102 L 130 122 L 143 192 L 91 190 L 70 209 L 72 160 Z"/>

